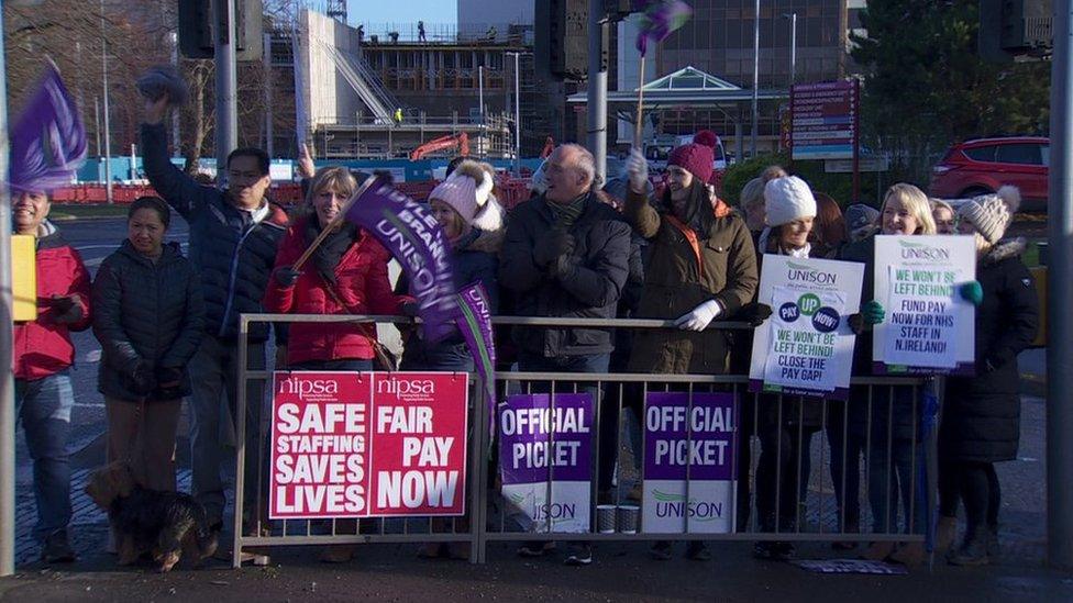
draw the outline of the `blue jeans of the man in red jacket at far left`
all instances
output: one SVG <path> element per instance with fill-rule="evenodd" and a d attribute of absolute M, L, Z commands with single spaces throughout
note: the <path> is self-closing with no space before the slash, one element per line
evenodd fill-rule
<path fill-rule="evenodd" d="M 70 464 L 67 438 L 75 392 L 63 370 L 42 379 L 15 379 L 15 415 L 22 421 L 34 467 L 37 524 L 34 535 L 44 540 L 70 523 Z"/>

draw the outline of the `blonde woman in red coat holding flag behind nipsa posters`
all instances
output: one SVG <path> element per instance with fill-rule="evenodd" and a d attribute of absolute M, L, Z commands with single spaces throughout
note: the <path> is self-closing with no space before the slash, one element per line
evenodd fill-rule
<path fill-rule="evenodd" d="M 332 223 L 357 189 L 342 167 L 321 168 L 306 204 L 291 221 L 265 291 L 267 312 L 280 314 L 399 314 L 412 301 L 396 295 L 387 277 L 391 255 L 372 234 L 342 222 L 298 270 L 295 261 Z M 357 323 L 305 323 L 290 330 L 287 366 L 303 370 L 370 370 L 376 327 Z"/>

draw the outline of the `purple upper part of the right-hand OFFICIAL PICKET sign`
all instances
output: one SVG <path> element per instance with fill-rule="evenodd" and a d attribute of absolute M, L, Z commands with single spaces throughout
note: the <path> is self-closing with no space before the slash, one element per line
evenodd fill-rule
<path fill-rule="evenodd" d="M 649 392 L 644 403 L 644 479 L 734 479 L 732 393 Z M 688 417 L 688 421 L 687 421 Z"/>

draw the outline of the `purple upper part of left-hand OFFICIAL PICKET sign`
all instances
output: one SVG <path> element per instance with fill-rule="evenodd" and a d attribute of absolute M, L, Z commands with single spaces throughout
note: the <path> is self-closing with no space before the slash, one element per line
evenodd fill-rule
<path fill-rule="evenodd" d="M 519 394 L 499 405 L 504 485 L 591 480 L 593 394 L 556 393 L 554 409 L 550 400 Z"/>

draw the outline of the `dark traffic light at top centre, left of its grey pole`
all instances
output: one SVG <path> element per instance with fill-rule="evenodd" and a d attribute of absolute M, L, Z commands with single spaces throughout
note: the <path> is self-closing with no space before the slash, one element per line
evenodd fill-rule
<path fill-rule="evenodd" d="M 534 47 L 538 70 L 563 79 L 588 72 L 588 0 L 536 2 Z"/>

